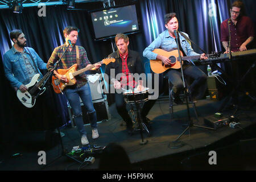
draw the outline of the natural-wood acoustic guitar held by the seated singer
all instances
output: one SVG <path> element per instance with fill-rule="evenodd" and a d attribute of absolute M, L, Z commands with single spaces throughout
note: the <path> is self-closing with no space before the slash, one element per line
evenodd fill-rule
<path fill-rule="evenodd" d="M 152 51 L 154 53 L 157 53 L 158 55 L 162 55 L 165 57 L 168 57 L 168 59 L 171 60 L 171 65 L 164 65 L 162 60 L 156 59 L 156 60 L 150 60 L 150 67 L 154 73 L 163 73 L 167 69 L 174 68 L 179 69 L 180 68 L 180 62 L 179 62 L 179 51 L 164 51 L 163 49 L 154 49 Z M 192 59 L 200 59 L 201 55 L 198 56 L 183 56 L 183 53 L 180 51 L 181 55 L 181 62 L 183 63 L 183 60 L 192 60 Z M 209 55 L 206 55 L 209 57 Z"/>

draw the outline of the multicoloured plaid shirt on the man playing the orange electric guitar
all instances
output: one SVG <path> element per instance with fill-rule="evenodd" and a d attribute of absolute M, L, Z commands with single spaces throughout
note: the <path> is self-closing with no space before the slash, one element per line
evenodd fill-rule
<path fill-rule="evenodd" d="M 64 44 L 63 46 L 59 46 L 54 49 L 47 63 L 48 71 L 50 71 L 54 67 L 54 64 L 56 63 L 57 60 L 60 59 L 60 57 L 63 55 L 66 48 L 67 48 L 67 45 Z M 71 51 L 68 48 L 67 52 L 61 58 L 59 67 L 57 69 L 68 69 L 74 64 L 77 64 L 77 70 L 85 68 L 86 65 L 91 64 L 90 61 L 88 60 L 84 47 L 79 46 L 79 63 L 77 63 L 77 60 L 76 60 L 76 47 L 73 46 Z M 77 75 L 76 81 L 77 81 L 78 87 L 84 86 L 87 82 L 85 73 L 81 73 L 80 75 Z"/>

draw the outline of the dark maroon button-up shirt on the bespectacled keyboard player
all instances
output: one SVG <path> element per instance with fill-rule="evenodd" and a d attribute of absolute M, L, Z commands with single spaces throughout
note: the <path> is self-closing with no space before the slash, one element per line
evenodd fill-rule
<path fill-rule="evenodd" d="M 248 16 L 241 16 L 235 25 L 230 21 L 231 51 L 240 51 L 240 46 L 250 36 L 255 36 L 253 22 Z M 229 42 L 228 19 L 221 23 L 221 42 Z"/>

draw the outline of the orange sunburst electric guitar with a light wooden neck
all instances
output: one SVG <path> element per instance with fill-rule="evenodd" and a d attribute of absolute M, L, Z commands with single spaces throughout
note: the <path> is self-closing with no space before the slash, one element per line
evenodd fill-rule
<path fill-rule="evenodd" d="M 102 61 L 95 63 L 95 64 L 106 64 L 107 65 L 110 62 L 114 63 L 115 59 L 114 58 L 103 59 Z M 52 86 L 53 86 L 54 92 L 61 93 L 66 86 L 75 85 L 76 84 L 75 76 L 94 68 L 95 64 L 92 64 L 86 68 L 79 69 L 79 71 L 77 71 L 77 64 L 72 65 L 72 67 L 70 67 L 68 69 L 57 69 L 57 73 L 59 73 L 60 75 L 65 75 L 67 77 L 68 81 L 62 82 L 59 80 L 59 78 L 57 78 L 55 75 L 53 75 L 52 76 Z"/>

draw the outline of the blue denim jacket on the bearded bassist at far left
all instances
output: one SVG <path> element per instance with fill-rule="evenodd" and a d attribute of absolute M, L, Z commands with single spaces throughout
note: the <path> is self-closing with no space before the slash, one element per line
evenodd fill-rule
<path fill-rule="evenodd" d="M 26 49 L 30 50 L 31 55 L 34 58 L 35 64 L 37 65 L 37 68 L 34 67 L 34 63 L 31 60 L 29 52 Z M 46 69 L 46 63 L 44 63 L 44 61 L 38 56 L 33 48 L 26 47 L 26 49 L 24 49 L 24 52 L 27 53 L 26 57 L 28 57 L 28 60 L 30 61 L 32 67 L 35 70 L 37 69 L 37 72 L 42 78 L 43 75 L 39 71 L 39 69 Z M 11 86 L 19 89 L 20 85 L 26 85 L 31 81 L 28 77 L 27 69 L 24 65 L 22 53 L 17 51 L 14 47 L 12 47 L 9 51 L 5 53 L 5 55 L 3 55 L 3 67 L 5 68 L 5 76 L 10 81 Z"/>

